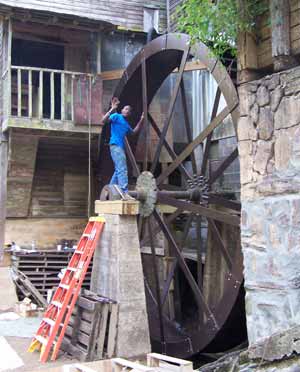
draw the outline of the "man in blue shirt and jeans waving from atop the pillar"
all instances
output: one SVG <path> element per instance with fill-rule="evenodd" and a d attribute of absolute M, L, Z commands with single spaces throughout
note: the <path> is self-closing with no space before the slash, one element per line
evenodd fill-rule
<path fill-rule="evenodd" d="M 109 141 L 110 154 L 114 162 L 115 171 L 110 180 L 110 185 L 118 185 L 125 197 L 130 199 L 128 195 L 128 171 L 125 154 L 125 137 L 127 134 L 136 134 L 141 129 L 144 114 L 142 114 L 139 122 L 134 129 L 129 125 L 127 118 L 130 116 L 132 108 L 127 105 L 121 110 L 121 113 L 113 113 L 117 110 L 120 101 L 114 97 L 111 102 L 111 109 L 103 116 L 102 122 L 109 120 L 111 124 L 111 136 Z"/>

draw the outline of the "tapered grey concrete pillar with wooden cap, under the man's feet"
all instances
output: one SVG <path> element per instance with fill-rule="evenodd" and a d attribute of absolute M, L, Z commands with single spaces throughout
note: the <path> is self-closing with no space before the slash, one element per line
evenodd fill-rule
<path fill-rule="evenodd" d="M 109 203 L 112 207 L 107 208 Z M 105 211 L 102 215 L 106 223 L 94 255 L 91 290 L 119 303 L 116 355 L 131 358 L 149 353 L 151 347 L 134 215 L 138 208 L 123 208 L 125 203 L 138 206 L 137 202 L 96 201 L 96 213 Z"/>

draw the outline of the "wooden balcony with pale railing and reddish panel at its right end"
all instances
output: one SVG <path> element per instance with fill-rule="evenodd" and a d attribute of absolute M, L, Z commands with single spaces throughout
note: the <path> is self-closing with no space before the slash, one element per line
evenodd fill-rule
<path fill-rule="evenodd" d="M 100 132 L 100 76 L 11 66 L 3 74 L 2 83 L 3 131 L 28 128 L 73 133 Z"/>

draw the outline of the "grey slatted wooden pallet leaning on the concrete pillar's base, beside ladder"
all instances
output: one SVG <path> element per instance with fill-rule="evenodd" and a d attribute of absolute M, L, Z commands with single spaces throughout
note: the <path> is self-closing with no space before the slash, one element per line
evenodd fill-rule
<path fill-rule="evenodd" d="M 62 350 L 82 362 L 113 357 L 117 322 L 117 303 L 83 290 L 66 330 Z"/>

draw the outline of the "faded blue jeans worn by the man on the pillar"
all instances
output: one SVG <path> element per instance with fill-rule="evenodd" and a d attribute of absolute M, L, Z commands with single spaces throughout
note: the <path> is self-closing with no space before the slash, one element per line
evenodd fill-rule
<path fill-rule="evenodd" d="M 128 192 L 128 173 L 125 151 L 120 146 L 110 145 L 110 154 L 115 165 L 115 172 L 110 185 L 118 185 L 125 193 Z"/>

